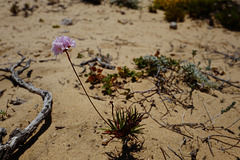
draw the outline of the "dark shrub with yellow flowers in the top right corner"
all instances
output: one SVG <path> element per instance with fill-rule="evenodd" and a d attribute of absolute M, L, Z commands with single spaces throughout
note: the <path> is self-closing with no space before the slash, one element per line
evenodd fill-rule
<path fill-rule="evenodd" d="M 164 10 L 169 22 L 183 22 L 185 14 L 193 19 L 215 16 L 223 27 L 240 31 L 240 5 L 232 0 L 154 0 L 151 8 Z"/>

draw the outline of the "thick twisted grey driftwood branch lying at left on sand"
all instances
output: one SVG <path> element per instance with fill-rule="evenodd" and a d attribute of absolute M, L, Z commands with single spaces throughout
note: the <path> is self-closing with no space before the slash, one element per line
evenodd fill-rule
<path fill-rule="evenodd" d="M 18 55 L 22 57 L 22 59 L 15 65 L 1 69 L 5 72 L 10 72 L 12 75 L 12 79 L 21 87 L 29 90 L 30 92 L 34 94 L 38 94 L 43 99 L 43 108 L 38 113 L 37 117 L 25 128 L 20 129 L 16 128 L 9 136 L 9 140 L 2 144 L 0 143 L 0 159 L 7 160 L 10 158 L 11 154 L 23 143 L 25 143 L 29 137 L 32 136 L 33 132 L 37 129 L 39 124 L 46 119 L 46 117 L 51 114 L 52 110 L 52 94 L 48 91 L 35 88 L 32 84 L 26 83 L 23 81 L 19 74 L 21 74 L 25 69 L 27 69 L 30 66 L 31 60 L 27 61 L 26 65 L 23 66 L 22 69 L 16 70 L 17 67 L 21 66 L 23 61 L 26 59 L 20 52 L 18 52 Z M 1 137 L 0 140 L 2 140 L 2 137 L 6 135 L 6 130 L 4 132 L 4 129 L 0 129 L 1 131 Z M 3 132 L 2 132 L 3 131 Z M 2 134 L 3 133 L 3 134 Z M 5 134 L 4 134 L 5 133 Z"/>

